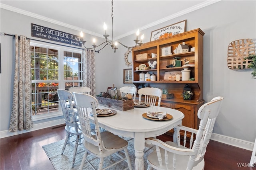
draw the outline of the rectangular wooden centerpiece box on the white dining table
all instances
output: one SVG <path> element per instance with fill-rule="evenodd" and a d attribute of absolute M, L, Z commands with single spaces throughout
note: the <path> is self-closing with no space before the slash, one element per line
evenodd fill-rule
<path fill-rule="evenodd" d="M 116 100 L 111 98 L 103 98 L 99 96 L 96 96 L 96 99 L 98 100 L 99 105 L 110 107 L 112 109 L 117 109 L 121 111 L 134 109 L 133 100 Z"/>

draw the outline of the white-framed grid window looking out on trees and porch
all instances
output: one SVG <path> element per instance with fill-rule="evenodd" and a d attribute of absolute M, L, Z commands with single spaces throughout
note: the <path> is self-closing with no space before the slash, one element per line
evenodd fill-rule
<path fill-rule="evenodd" d="M 30 47 L 33 119 L 60 116 L 57 89 L 82 86 L 82 51 L 33 43 Z"/>

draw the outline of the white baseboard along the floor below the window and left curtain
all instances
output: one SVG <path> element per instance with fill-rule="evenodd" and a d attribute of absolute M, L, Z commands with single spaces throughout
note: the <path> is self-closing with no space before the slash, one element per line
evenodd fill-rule
<path fill-rule="evenodd" d="M 48 122 L 45 122 L 45 123 L 35 124 L 34 127 L 32 129 L 30 129 L 29 131 L 26 131 L 26 130 L 17 131 L 17 132 L 9 132 L 8 130 L 1 131 L 0 132 L 0 138 L 10 137 L 10 136 L 14 136 L 14 135 L 20 135 L 22 133 L 36 131 L 36 130 L 44 129 L 44 128 L 47 128 L 47 127 L 57 126 L 57 125 L 61 125 L 61 124 L 64 124 L 64 123 L 65 123 L 64 119 L 58 119 L 58 120 L 54 120 L 54 121 L 48 121 Z"/>

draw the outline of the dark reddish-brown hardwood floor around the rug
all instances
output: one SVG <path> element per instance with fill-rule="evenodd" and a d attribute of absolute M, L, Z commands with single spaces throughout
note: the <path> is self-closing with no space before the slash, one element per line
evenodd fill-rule
<path fill-rule="evenodd" d="M 64 126 L 58 126 L 0 139 L 0 170 L 54 170 L 42 146 L 64 139 L 65 135 Z M 158 138 L 168 141 L 170 136 Z M 204 156 L 205 170 L 256 169 L 238 167 L 238 163 L 246 166 L 251 154 L 249 150 L 210 141 Z"/>

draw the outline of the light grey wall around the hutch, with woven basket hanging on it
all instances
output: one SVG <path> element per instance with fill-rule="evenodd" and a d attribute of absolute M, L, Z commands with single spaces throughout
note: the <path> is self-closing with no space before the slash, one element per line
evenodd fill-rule
<path fill-rule="evenodd" d="M 247 38 L 255 41 L 255 9 L 256 1 L 220 1 L 141 31 L 144 42 L 148 42 L 151 31 L 182 20 L 187 20 L 187 31 L 202 29 L 205 33 L 204 100 L 209 102 L 215 96 L 224 97 L 213 133 L 253 143 L 256 135 L 256 80 L 251 78 L 251 70 L 230 70 L 227 67 L 227 54 L 232 41 Z M 133 45 L 133 39 L 134 35 L 130 35 L 121 41 Z M 117 77 L 122 77 L 121 69 L 126 68 L 124 53 L 118 51 L 119 63 L 123 68 L 117 72 Z"/>

